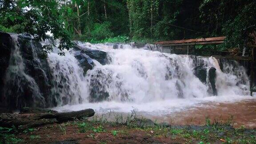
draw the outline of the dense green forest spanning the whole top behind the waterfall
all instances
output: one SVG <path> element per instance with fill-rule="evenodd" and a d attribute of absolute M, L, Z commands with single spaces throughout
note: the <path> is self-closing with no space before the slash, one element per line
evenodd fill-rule
<path fill-rule="evenodd" d="M 0 31 L 70 40 L 124 42 L 227 36 L 243 47 L 256 30 L 255 0 L 1 0 Z M 46 47 L 47 49 L 47 47 Z"/>

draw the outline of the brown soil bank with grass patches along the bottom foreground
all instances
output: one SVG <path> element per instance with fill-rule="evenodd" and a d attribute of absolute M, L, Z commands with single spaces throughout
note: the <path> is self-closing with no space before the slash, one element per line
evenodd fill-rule
<path fill-rule="evenodd" d="M 137 126 L 75 121 L 28 129 L 10 136 L 28 144 L 256 143 L 256 130 L 228 125 L 188 127 Z"/>

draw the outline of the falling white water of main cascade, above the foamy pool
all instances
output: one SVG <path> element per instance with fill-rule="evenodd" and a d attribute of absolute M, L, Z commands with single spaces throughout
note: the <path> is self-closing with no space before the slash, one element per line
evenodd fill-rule
<path fill-rule="evenodd" d="M 228 71 L 230 64 L 223 64 L 221 71 L 216 59 L 175 55 L 148 50 L 145 45 L 136 48 L 132 44 L 89 44 L 80 43 L 80 48 L 98 49 L 108 53 L 108 63 L 100 64 L 95 60 L 94 68 L 82 75 L 79 63 L 69 51 L 60 58 L 48 58 L 56 75 L 66 75 L 68 92 L 78 92 L 83 102 L 117 101 L 144 103 L 152 100 L 172 100 L 178 98 L 203 98 L 210 96 L 209 69 L 216 68 L 216 89 L 219 95 L 248 95 L 248 76 L 242 66 Z M 151 49 L 151 48 L 150 48 Z M 73 57 L 72 57 L 73 56 Z M 54 59 L 54 63 L 51 62 Z M 72 60 L 71 60 L 72 59 Z M 196 59 L 196 61 L 195 61 Z M 65 62 L 68 61 L 68 62 Z M 65 67 L 59 68 L 64 63 Z M 236 63 L 237 64 L 237 63 Z M 207 68 L 207 82 L 204 84 L 194 75 L 194 68 L 204 65 Z M 74 68 L 76 67 L 76 68 Z M 72 69 L 72 73 L 71 70 Z M 231 72 L 230 72 L 231 71 Z M 77 75 L 77 76 L 76 76 Z M 59 79 L 54 81 L 60 83 Z M 73 86 L 74 85 L 74 86 Z M 75 88 L 75 86 L 79 88 Z M 60 92 L 60 95 L 67 95 Z"/>

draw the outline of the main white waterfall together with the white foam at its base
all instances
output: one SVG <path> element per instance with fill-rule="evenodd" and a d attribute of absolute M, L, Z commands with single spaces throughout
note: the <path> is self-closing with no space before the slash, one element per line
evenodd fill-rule
<path fill-rule="evenodd" d="M 74 57 L 74 51 L 65 56 L 52 52 L 48 63 L 55 87 L 59 93 L 58 111 L 77 111 L 93 108 L 96 112 L 116 111 L 167 114 L 208 102 L 234 102 L 252 99 L 249 80 L 244 67 L 238 63 L 223 61 L 223 71 L 215 58 L 175 55 L 152 51 L 154 46 L 135 48 L 129 44 L 80 43 L 80 47 L 99 49 L 108 53 L 105 65 L 93 60 L 94 67 L 84 75 Z M 152 50 L 148 50 L 148 48 Z M 216 68 L 217 96 L 208 92 L 210 84 L 202 83 L 193 73 L 193 68 L 204 65 Z M 61 86 L 60 86 L 61 85 Z M 101 102 L 91 102 L 91 92 L 98 88 L 107 93 Z M 64 97 L 70 96 L 68 104 L 61 106 Z M 156 114 L 156 113 L 155 113 Z"/>

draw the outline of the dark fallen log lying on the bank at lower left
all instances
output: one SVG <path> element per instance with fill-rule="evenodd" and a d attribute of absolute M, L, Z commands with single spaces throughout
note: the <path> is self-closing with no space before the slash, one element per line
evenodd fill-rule
<path fill-rule="evenodd" d="M 85 109 L 77 112 L 41 113 L 41 114 L 9 114 L 0 113 L 0 127 L 12 127 L 20 129 L 35 128 L 46 124 L 66 122 L 69 120 L 91 117 L 93 109 Z"/>

